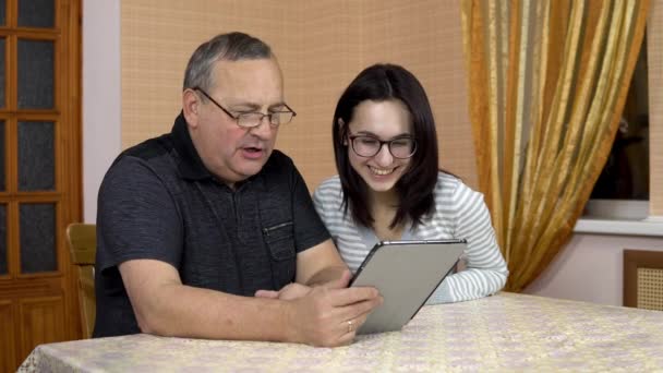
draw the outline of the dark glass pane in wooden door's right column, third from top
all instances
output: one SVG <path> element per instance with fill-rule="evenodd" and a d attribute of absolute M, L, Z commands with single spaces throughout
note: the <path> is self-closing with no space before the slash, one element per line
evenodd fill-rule
<path fill-rule="evenodd" d="M 19 190 L 56 188 L 53 122 L 19 122 Z"/>

